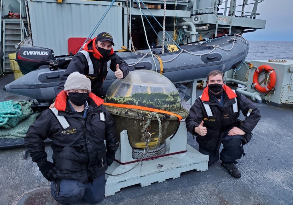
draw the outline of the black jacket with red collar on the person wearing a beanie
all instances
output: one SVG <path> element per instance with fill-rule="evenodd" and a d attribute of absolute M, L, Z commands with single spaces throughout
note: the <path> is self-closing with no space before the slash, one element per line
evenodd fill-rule
<path fill-rule="evenodd" d="M 47 159 L 44 140 L 52 140 L 54 166 L 61 171 L 57 174 L 59 179 L 91 182 L 108 168 L 106 148 L 117 150 L 113 119 L 102 105 L 102 99 L 92 93 L 89 96 L 84 118 L 72 111 L 66 93 L 60 92 L 55 108 L 58 116 L 64 116 L 70 126 L 63 129 L 52 110 L 48 109 L 29 127 L 25 137 L 25 146 L 37 163 Z"/>

